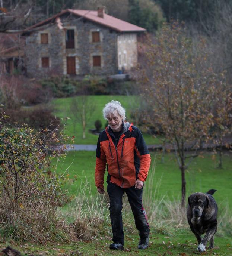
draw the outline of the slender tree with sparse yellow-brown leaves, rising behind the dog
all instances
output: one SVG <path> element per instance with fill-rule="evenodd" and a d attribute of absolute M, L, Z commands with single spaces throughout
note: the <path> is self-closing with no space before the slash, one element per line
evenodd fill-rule
<path fill-rule="evenodd" d="M 198 155 L 200 140 L 209 139 L 212 105 L 221 76 L 208 62 L 203 38 L 194 44 L 182 24 L 164 26 L 154 43 L 146 45 L 140 68 L 143 96 L 149 103 L 146 120 L 159 123 L 166 141 L 175 149 L 181 170 L 181 206 L 185 207 L 185 171 Z M 209 107 L 210 106 L 210 107 Z M 187 150 L 191 150 L 188 153 Z"/>

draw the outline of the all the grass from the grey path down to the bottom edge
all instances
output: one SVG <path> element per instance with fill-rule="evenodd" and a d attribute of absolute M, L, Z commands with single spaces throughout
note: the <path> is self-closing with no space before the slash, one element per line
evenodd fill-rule
<path fill-rule="evenodd" d="M 134 227 L 133 215 L 126 198 L 124 198 L 123 220 L 125 233 L 125 251 L 111 251 L 111 225 L 107 207 L 107 197 L 99 195 L 95 197 L 94 185 L 94 152 L 69 152 L 64 161 L 57 162 L 57 172 L 69 174 L 70 182 L 66 189 L 76 195 L 72 205 L 61 209 L 61 213 L 67 215 L 67 219 L 73 222 L 72 218 L 79 225 L 76 232 L 79 237 L 88 239 L 77 243 L 53 243 L 53 244 L 18 244 L 12 240 L 0 240 L 0 247 L 7 245 L 18 249 L 22 255 L 34 253 L 34 255 L 94 255 L 94 256 L 134 256 L 134 255 L 232 255 L 231 240 L 231 154 L 224 155 L 224 169 L 217 169 L 216 160 L 213 160 L 210 153 L 204 154 L 201 158 L 195 158 L 186 173 L 187 194 L 190 192 L 206 192 L 210 188 L 218 191 L 215 193 L 219 205 L 219 225 L 215 237 L 214 250 L 207 250 L 206 253 L 196 251 L 196 238 L 188 227 L 185 214 L 179 214 L 180 196 L 180 172 L 173 154 L 166 154 L 164 163 L 161 163 L 161 155 L 152 153 L 155 160 L 155 168 L 151 168 L 148 180 L 144 188 L 143 203 L 146 208 L 150 223 L 150 246 L 147 250 L 137 249 L 138 231 Z M 54 162 L 56 163 L 56 162 Z M 154 163 L 153 163 L 154 164 Z M 77 175 L 77 176 L 75 176 Z M 86 189 L 89 187 L 89 190 Z M 163 198 L 163 195 L 166 195 Z M 97 198 L 101 200 L 98 201 Z M 229 205 L 229 209 L 226 206 Z M 71 210 L 74 209 L 74 215 Z M 169 209 L 169 210 L 168 210 Z M 226 227 L 227 225 L 227 227 Z M 85 228 L 94 226 L 86 233 Z"/>

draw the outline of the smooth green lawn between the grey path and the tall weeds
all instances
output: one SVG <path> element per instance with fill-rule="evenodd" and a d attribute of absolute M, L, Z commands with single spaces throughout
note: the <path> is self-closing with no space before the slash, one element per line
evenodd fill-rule
<path fill-rule="evenodd" d="M 161 163 L 161 155 L 152 152 L 152 166 L 155 164 L 155 170 L 150 168 L 150 172 L 145 182 L 145 186 L 150 185 L 150 177 L 153 179 L 152 187 L 157 191 L 157 198 L 163 195 L 171 200 L 180 198 L 181 194 L 181 173 L 173 154 L 166 154 L 164 163 Z M 206 153 L 203 157 L 194 158 L 186 172 L 187 195 L 193 192 L 207 192 L 209 189 L 217 189 L 214 194 L 216 201 L 220 203 L 229 203 L 232 208 L 232 154 L 223 156 L 223 169 L 217 169 L 217 160 L 213 160 L 212 154 Z M 66 158 L 57 163 L 57 172 L 67 172 L 70 175 L 70 182 L 66 189 L 71 194 L 87 182 L 89 183 L 91 194 L 96 194 L 94 183 L 95 175 L 95 152 L 93 151 L 71 151 Z M 55 160 L 53 161 L 55 164 Z M 77 175 L 77 178 L 74 177 Z M 106 180 L 107 172 L 105 173 Z M 106 185 L 105 185 L 106 186 Z"/>

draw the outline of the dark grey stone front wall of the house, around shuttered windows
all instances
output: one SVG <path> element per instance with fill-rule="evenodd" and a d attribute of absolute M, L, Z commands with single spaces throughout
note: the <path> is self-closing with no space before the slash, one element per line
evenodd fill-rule
<path fill-rule="evenodd" d="M 62 22 L 64 28 L 74 29 L 75 48 L 66 49 L 65 30 L 60 30 L 56 25 L 31 33 L 26 38 L 25 46 L 29 76 L 50 75 L 52 72 L 67 74 L 68 56 L 75 57 L 76 74 L 79 75 L 108 75 L 118 72 L 119 44 L 116 31 L 86 19 L 78 19 L 76 16 Z M 100 42 L 92 42 L 93 31 L 99 31 Z M 48 44 L 41 44 L 41 33 L 48 33 Z M 127 51 L 129 52 L 129 49 Z M 93 56 L 101 56 L 101 67 L 93 67 Z M 49 57 L 49 68 L 42 68 L 42 57 Z M 130 63 L 128 60 L 128 65 Z"/>

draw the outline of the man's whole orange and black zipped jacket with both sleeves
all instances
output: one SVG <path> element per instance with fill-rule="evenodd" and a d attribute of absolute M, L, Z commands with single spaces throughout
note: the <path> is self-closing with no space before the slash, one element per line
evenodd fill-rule
<path fill-rule="evenodd" d="M 136 179 L 146 181 L 150 162 L 142 133 L 133 123 L 123 122 L 123 132 L 118 140 L 108 126 L 98 138 L 95 184 L 103 188 L 107 164 L 107 181 L 130 188 L 135 185 Z"/>

